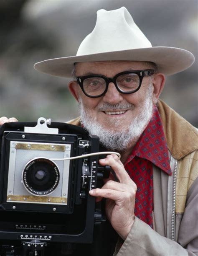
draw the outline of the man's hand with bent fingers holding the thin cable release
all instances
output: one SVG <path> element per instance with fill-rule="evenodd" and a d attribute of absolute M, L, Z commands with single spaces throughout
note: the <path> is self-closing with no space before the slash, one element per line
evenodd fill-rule
<path fill-rule="evenodd" d="M 101 189 L 92 189 L 89 193 L 99 202 L 102 197 L 107 198 L 106 214 L 114 230 L 126 239 L 134 222 L 136 184 L 129 177 L 124 165 L 117 160 L 117 155 L 108 155 L 99 160 L 101 165 L 110 165 L 119 182 L 114 181 L 113 175 L 105 181 Z"/>

